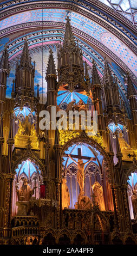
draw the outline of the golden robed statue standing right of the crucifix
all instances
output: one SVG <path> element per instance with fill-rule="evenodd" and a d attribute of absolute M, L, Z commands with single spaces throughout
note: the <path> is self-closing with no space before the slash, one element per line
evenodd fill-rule
<path fill-rule="evenodd" d="M 105 209 L 105 202 L 103 198 L 102 186 L 99 184 L 98 181 L 95 181 L 95 183 L 92 185 L 92 188 L 94 192 L 95 204 L 99 205 L 99 208 L 101 211 L 105 211 L 106 209 Z"/>

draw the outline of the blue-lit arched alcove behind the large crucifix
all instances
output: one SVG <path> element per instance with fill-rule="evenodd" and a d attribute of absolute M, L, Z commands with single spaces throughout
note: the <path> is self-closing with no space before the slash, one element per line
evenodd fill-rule
<path fill-rule="evenodd" d="M 100 197 L 98 202 L 104 202 L 100 204 L 102 211 L 113 210 L 112 196 L 108 196 L 108 193 L 111 194 L 111 191 L 108 190 L 108 187 L 107 189 L 105 187 L 108 182 L 108 167 L 105 165 L 104 155 L 100 150 L 87 142 L 77 142 L 72 143 L 66 149 L 64 147 L 62 157 L 62 178 L 66 180 L 64 181 L 67 184 L 65 197 L 68 202 L 68 206 L 66 206 L 64 203 L 64 190 L 62 192 L 62 206 L 65 204 L 67 208 L 77 209 L 77 199 L 82 191 L 81 186 L 83 186 L 84 196 L 88 197 L 92 203 L 94 203 L 94 200 L 97 202 L 96 198 L 98 196 Z M 79 160 L 82 160 L 80 174 Z"/>

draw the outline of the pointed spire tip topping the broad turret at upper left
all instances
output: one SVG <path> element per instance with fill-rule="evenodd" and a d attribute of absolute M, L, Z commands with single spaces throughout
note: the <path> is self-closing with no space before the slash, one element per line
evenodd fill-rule
<path fill-rule="evenodd" d="M 19 66 L 24 66 L 25 68 L 32 69 L 31 57 L 29 54 L 29 46 L 28 46 L 27 38 L 25 38 L 24 47 L 23 47 L 22 56 L 21 56 Z"/>

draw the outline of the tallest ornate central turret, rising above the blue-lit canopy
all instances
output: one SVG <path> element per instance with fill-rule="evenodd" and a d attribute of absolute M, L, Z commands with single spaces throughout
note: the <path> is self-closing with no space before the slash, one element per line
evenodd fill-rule
<path fill-rule="evenodd" d="M 58 84 L 67 84 L 70 92 L 75 88 L 86 90 L 89 95 L 89 83 L 84 80 L 83 54 L 82 48 L 75 42 L 71 29 L 69 17 L 67 17 L 66 32 L 64 35 L 63 45 L 60 45 L 58 51 Z"/>

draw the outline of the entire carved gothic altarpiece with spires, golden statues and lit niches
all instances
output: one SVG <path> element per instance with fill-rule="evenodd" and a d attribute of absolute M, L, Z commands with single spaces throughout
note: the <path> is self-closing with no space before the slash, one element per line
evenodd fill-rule
<path fill-rule="evenodd" d="M 136 116 L 133 122 L 127 120 L 107 60 L 103 82 L 94 62 L 90 80 L 69 18 L 57 55 L 58 81 L 49 53 L 45 106 L 39 103 L 38 84 L 34 95 L 35 63 L 27 39 L 16 65 L 12 99 L 1 93 L 0 243 L 136 243 L 136 133 L 129 132 L 137 127 Z M 0 70 L 5 90 L 6 46 Z M 128 97 L 134 110 L 136 92 L 130 77 Z M 57 112 L 91 111 L 92 116 L 97 110 L 97 135 L 88 136 L 82 123 L 79 130 L 41 131 L 39 113 L 47 109 L 51 114 L 51 106 Z M 3 135 L 3 126 L 9 127 L 9 137 Z"/>

